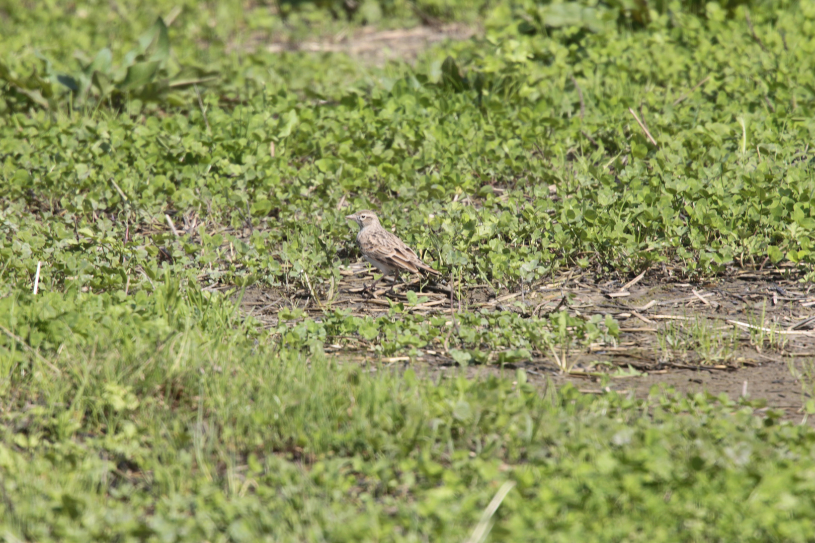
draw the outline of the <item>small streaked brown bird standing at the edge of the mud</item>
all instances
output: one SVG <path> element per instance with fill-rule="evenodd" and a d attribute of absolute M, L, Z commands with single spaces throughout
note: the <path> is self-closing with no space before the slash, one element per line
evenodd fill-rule
<path fill-rule="evenodd" d="M 371 285 L 371 289 L 377 285 L 386 275 L 394 274 L 394 285 L 399 280 L 399 272 L 405 270 L 412 274 L 419 273 L 423 269 L 429 274 L 441 275 L 438 271 L 426 265 L 416 256 L 413 249 L 407 247 L 404 242 L 382 228 L 379 218 L 375 212 L 368 209 L 346 215 L 346 219 L 356 221 L 359 225 L 357 243 L 365 260 L 382 272 L 382 277 L 378 278 Z M 393 286 L 390 287 L 393 290 Z"/>

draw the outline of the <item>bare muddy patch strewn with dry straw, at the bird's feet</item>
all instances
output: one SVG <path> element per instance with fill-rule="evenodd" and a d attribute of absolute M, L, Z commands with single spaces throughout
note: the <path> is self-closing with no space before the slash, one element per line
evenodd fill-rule
<path fill-rule="evenodd" d="M 586 318 L 611 315 L 619 322 L 619 339 L 615 344 L 591 344 L 566 352 L 570 373 L 560 370 L 552 353 L 538 352 L 504 371 L 523 367 L 533 383 L 569 381 L 586 393 L 608 388 L 644 397 L 654 385 L 716 396 L 724 392 L 732 399 L 746 393 L 752 400 L 764 399 L 773 408 L 786 409 L 789 418 L 800 419 L 802 399 L 808 394 L 791 367 L 800 369 L 815 360 L 815 292 L 811 292 L 813 285 L 791 278 L 792 271 L 742 270 L 688 283 L 672 279 L 671 270 L 663 269 L 626 284 L 595 282 L 588 273 L 572 271 L 523 292 L 498 292 L 486 285 L 459 290 L 454 285 L 452 296 L 443 282 L 428 284 L 413 276 L 412 282 L 399 284 L 394 291 L 381 282 L 372 296 L 363 288 L 373 279 L 368 265 L 354 264 L 341 270 L 342 279 L 333 287 L 253 289 L 245 293 L 242 304 L 246 313 L 269 327 L 277 326 L 277 313 L 283 307 L 303 309 L 313 316 L 330 308 L 377 317 L 387 312 L 392 301 L 407 300 L 406 290 L 421 291 L 428 298 L 412 309 L 419 314 L 478 309 L 529 317 L 566 309 Z M 438 346 L 429 346 L 413 358 L 378 358 L 365 344 L 354 341 L 340 344 L 329 339 L 325 350 L 380 367 L 409 364 L 434 374 L 458 371 Z M 494 365 L 467 369 L 473 375 L 500 371 Z"/>

